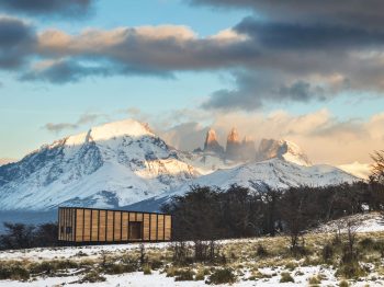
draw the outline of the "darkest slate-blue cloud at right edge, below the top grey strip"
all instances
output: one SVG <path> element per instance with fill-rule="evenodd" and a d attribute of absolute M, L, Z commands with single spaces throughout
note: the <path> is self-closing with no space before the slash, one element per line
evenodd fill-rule
<path fill-rule="evenodd" d="M 296 24 L 261 22 L 246 18 L 236 31 L 247 34 L 257 45 L 268 49 L 338 49 L 369 48 L 384 44 L 384 30 L 371 31 L 366 27 L 346 27 L 326 22 L 321 24 Z"/>

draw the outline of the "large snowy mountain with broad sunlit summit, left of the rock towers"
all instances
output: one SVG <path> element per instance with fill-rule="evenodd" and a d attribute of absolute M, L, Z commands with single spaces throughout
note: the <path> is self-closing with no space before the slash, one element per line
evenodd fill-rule
<path fill-rule="evenodd" d="M 0 209 L 117 207 L 197 176 L 177 151 L 135 120 L 71 136 L 0 167 Z"/>

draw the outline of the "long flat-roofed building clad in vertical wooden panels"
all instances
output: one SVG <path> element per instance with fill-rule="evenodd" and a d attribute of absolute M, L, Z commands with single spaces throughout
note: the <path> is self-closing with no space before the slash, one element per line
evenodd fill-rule
<path fill-rule="evenodd" d="M 58 240 L 79 243 L 169 241 L 172 234 L 172 217 L 154 213 L 60 207 L 58 223 Z"/>

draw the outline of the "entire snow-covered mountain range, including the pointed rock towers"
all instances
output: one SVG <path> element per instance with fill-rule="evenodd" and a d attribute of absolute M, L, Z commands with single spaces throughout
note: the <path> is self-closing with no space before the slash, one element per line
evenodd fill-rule
<path fill-rule="evenodd" d="M 133 119 L 93 127 L 0 167 L 0 210 L 52 210 L 58 206 L 156 210 L 191 185 L 251 190 L 329 185 L 358 177 L 313 165 L 295 144 L 255 141 L 231 129 L 227 146 L 207 131 L 203 149 L 180 151 Z M 149 204 L 150 203 L 150 204 Z"/>

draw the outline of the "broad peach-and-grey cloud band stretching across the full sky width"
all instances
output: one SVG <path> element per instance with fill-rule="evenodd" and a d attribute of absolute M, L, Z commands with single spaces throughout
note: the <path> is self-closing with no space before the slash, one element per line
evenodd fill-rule
<path fill-rule="evenodd" d="M 229 71 L 236 85 L 214 91 L 203 104 L 211 111 L 252 111 L 276 102 L 326 101 L 345 91 L 384 90 L 380 27 L 251 16 L 201 37 L 183 25 L 87 28 L 75 34 L 50 28 L 36 34 L 29 24 L 12 21 L 12 27 L 19 23 L 29 37 L 0 30 L 25 39 L 3 49 L 8 62 L 0 62 L 0 68 L 18 67 L 23 81 L 65 84 L 89 77 L 174 79 L 180 71 Z M 12 41 L 0 42 L 0 49 Z M 25 61 L 30 65 L 22 66 Z"/>

